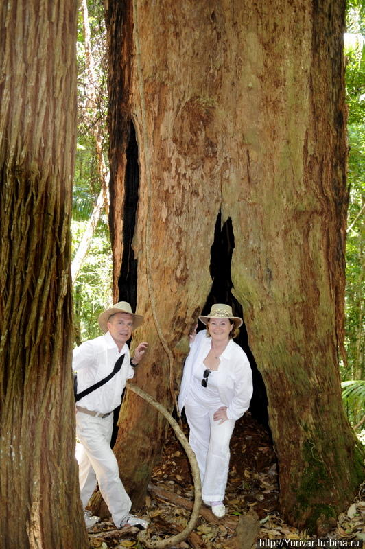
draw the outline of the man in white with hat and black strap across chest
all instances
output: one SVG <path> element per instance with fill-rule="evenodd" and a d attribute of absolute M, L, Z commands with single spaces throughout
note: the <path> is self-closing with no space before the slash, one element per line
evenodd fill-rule
<path fill-rule="evenodd" d="M 76 404 L 76 434 L 81 443 L 78 463 L 82 504 L 85 508 L 98 483 L 117 528 L 137 526 L 144 529 L 148 526 L 146 520 L 130 515 L 132 503 L 119 478 L 118 463 L 110 448 L 113 410 L 121 404 L 127 379 L 134 375 L 132 366 L 139 364 L 148 348 L 148 343 L 140 343 L 130 360 L 126 341 L 142 320 L 143 316 L 132 313 L 129 303 L 120 301 L 98 318 L 104 336 L 86 341 L 73 350 L 72 367 L 78 374 L 78 393 L 108 376 L 123 356 L 123 362 L 118 362 L 121 363 L 119 371 Z M 85 512 L 87 528 L 97 520 Z"/>

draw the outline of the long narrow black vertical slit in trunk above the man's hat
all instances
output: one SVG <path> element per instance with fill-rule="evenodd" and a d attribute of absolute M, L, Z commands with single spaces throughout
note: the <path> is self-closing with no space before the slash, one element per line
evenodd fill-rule
<path fill-rule="evenodd" d="M 119 301 L 128 301 L 132 310 L 137 306 L 137 259 L 134 259 L 132 240 L 136 226 L 136 212 L 139 190 L 138 145 L 132 120 L 126 150 L 126 177 L 123 209 L 123 255 L 118 288 Z"/>

